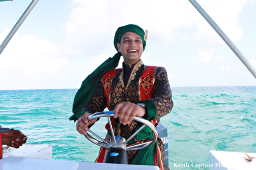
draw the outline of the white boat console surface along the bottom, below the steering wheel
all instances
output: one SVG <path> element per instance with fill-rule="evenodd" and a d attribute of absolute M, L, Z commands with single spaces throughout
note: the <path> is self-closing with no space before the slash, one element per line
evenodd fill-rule
<path fill-rule="evenodd" d="M 0 170 L 159 170 L 159 167 L 7 157 L 0 160 Z"/>

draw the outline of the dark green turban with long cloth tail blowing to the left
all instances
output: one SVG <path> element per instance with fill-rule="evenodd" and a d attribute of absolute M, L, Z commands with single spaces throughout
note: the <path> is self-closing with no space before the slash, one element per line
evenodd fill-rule
<path fill-rule="evenodd" d="M 126 26 L 121 26 L 116 30 L 116 34 L 114 37 L 114 46 L 117 51 L 118 49 L 117 49 L 116 43 L 120 41 L 122 35 L 124 35 L 126 32 L 133 32 L 139 35 L 143 41 L 143 48 L 145 50 L 145 46 L 146 46 L 145 39 L 147 38 L 147 37 L 144 38 L 145 32 L 139 26 L 129 24 Z M 91 98 L 91 96 L 95 92 L 99 79 L 106 72 L 109 72 L 118 66 L 121 56 L 122 54 L 120 52 L 117 52 L 112 58 L 108 58 L 96 70 L 94 70 L 90 75 L 88 75 L 87 78 L 84 79 L 80 89 L 76 92 L 74 102 L 73 102 L 74 114 L 70 117 L 70 121 L 71 120 L 76 121 L 80 117 L 81 110 L 86 104 L 86 102 Z"/>

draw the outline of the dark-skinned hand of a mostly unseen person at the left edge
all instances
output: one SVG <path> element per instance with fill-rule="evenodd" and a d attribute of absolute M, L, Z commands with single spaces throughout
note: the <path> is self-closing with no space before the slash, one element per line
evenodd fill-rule
<path fill-rule="evenodd" d="M 3 144 L 6 144 L 10 147 L 19 148 L 23 144 L 26 143 L 26 140 L 28 137 L 21 133 L 19 130 L 11 129 L 11 132 L 9 132 L 8 135 L 2 135 L 3 136 Z"/>

